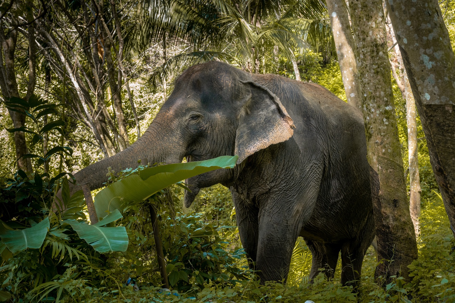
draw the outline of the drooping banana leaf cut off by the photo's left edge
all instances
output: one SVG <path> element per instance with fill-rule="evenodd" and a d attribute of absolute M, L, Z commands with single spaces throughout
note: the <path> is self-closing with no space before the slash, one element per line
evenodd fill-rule
<path fill-rule="evenodd" d="M 11 253 L 18 253 L 27 248 L 40 248 L 49 230 L 49 218 L 30 228 L 9 229 L 0 223 L 0 238 Z"/>

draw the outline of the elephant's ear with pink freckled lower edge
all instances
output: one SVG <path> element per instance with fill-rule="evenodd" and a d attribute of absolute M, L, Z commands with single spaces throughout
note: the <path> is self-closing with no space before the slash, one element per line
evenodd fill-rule
<path fill-rule="evenodd" d="M 240 82 L 251 86 L 251 97 L 238 113 L 235 136 L 237 164 L 258 150 L 288 140 L 295 129 L 283 104 L 267 87 L 254 81 Z"/>

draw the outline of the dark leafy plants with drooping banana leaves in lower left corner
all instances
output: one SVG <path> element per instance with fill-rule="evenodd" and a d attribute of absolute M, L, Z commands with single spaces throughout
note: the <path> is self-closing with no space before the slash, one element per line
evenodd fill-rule
<path fill-rule="evenodd" d="M 44 115 L 43 112 L 50 116 L 57 114 L 56 106 L 48 106 L 36 98 L 30 98 L 28 102 L 11 98 L 5 104 L 35 123 Z M 63 133 L 62 120 L 56 121 L 46 124 L 39 132 L 28 128 L 21 130 L 34 134 L 35 144 L 42 147 L 45 133 L 54 130 Z M 44 166 L 46 173 L 39 174 L 36 170 L 34 175 L 29 176 L 19 170 L 14 179 L 6 179 L 1 183 L 1 219 L 5 221 L 0 221 L 2 300 L 37 302 L 46 298 L 48 301 L 60 302 L 61 298 L 75 298 L 75 295 L 79 298 L 86 292 L 82 290 L 87 285 L 110 286 L 112 281 L 106 281 L 110 276 L 103 269 L 105 257 L 98 251 L 121 250 L 112 245 L 116 238 L 123 237 L 126 243 L 123 242 L 122 245 L 127 245 L 124 227 L 101 227 L 121 218 L 118 212 L 112 213 L 98 226 L 86 224 L 83 194 L 77 192 L 70 196 L 67 173 L 51 178 L 47 172 L 44 163 L 55 154 L 60 154 L 61 157 L 70 155 L 71 149 L 56 146 L 46 153 L 44 149 L 41 151 L 42 155 L 29 154 L 26 157 L 37 158 L 36 167 Z M 62 201 L 55 196 L 60 186 Z M 119 232 L 118 228 L 122 230 Z M 101 231 L 101 237 L 92 243 L 91 240 L 94 236 L 99 236 Z M 91 239 L 89 242 L 93 248 L 81 238 Z M 106 244 L 110 244 L 109 250 L 106 249 Z M 109 279 L 118 286 L 115 278 Z"/>

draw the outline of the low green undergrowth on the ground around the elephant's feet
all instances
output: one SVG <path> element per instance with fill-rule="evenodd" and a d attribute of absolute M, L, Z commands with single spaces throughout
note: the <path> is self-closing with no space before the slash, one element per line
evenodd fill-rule
<path fill-rule="evenodd" d="M 138 292 L 124 287 L 121 295 L 98 290 L 84 302 L 455 302 L 455 252 L 451 249 L 454 238 L 442 201 L 435 200 L 426 204 L 420 220 L 422 233 L 418 242 L 419 259 L 409 266 L 412 281 L 403 283 L 401 277 L 395 277 L 393 283 L 385 289 L 381 288 L 374 281 L 377 261 L 374 250 L 370 247 L 364 258 L 359 297 L 352 292 L 352 288 L 339 283 L 339 267 L 333 280 L 328 281 L 320 273 L 313 284 L 308 283 L 311 253 L 304 241 L 298 240 L 286 284 L 260 285 L 253 273 L 245 272 L 245 279 L 236 283 L 209 281 L 203 286 L 192 285 L 189 292 L 163 291 L 160 287 L 139 285 Z M 232 236 L 233 234 L 229 235 Z"/>

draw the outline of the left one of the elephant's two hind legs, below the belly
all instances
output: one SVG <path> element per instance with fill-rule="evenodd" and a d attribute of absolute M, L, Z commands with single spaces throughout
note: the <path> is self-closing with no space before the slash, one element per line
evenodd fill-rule
<path fill-rule="evenodd" d="M 325 269 L 324 274 L 327 278 L 334 278 L 341 245 L 334 243 L 322 243 L 306 238 L 304 238 L 304 240 L 307 243 L 312 255 L 310 272 L 311 282 L 320 273 L 319 268 Z"/>

